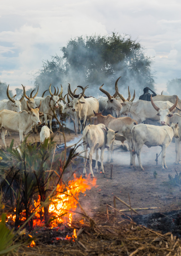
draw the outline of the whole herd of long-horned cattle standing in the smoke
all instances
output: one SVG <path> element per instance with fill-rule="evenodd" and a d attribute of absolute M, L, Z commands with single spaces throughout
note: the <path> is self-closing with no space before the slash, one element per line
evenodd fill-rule
<path fill-rule="evenodd" d="M 85 92 L 88 86 L 82 87 L 80 94 L 71 91 L 71 85 L 68 84 L 68 93 L 63 97 L 63 88 L 61 91 L 52 93 L 51 85 L 49 89 L 50 95 L 37 97 L 37 92 L 30 97 L 26 95 L 25 87 L 22 85 L 23 94 L 19 100 L 15 100 L 9 95 L 9 86 L 7 87 L 7 98 L 0 101 L 0 129 L 1 139 L 6 148 L 5 134 L 9 132 L 19 132 L 20 142 L 22 142 L 27 133 L 34 127 L 37 133 L 37 126 L 44 123 L 40 133 L 41 143 L 45 138 L 50 137 L 52 133 L 52 118 L 56 114 L 56 118 L 63 114 L 69 117 L 69 122 L 73 121 L 75 133 L 82 133 L 84 142 L 84 170 L 83 176 L 86 176 L 87 149 L 89 151 L 89 169 L 93 177 L 92 155 L 95 152 L 95 173 L 98 171 L 98 149 L 100 149 L 100 170 L 104 173 L 103 155 L 105 148 L 108 148 L 108 159 L 113 159 L 113 143 L 119 140 L 122 143 L 126 140 L 130 151 L 130 167 L 136 169 L 135 156 L 138 157 L 139 168 L 144 170 L 141 165 L 140 153 L 143 145 L 148 148 L 160 146 L 162 148 L 161 168 L 167 168 L 165 162 L 166 148 L 175 138 L 176 164 L 180 159 L 180 139 L 181 132 L 181 100 L 176 96 L 157 95 L 151 97 L 151 101 L 135 99 L 135 91 L 133 98 L 128 87 L 128 98 L 125 99 L 118 90 L 118 81 L 115 82 L 115 93 L 113 96 L 103 89 L 103 85 L 99 90 L 107 97 L 96 99 L 93 96 L 86 96 Z M 55 87 L 54 87 L 55 88 Z M 67 96 L 67 102 L 66 102 Z M 71 100 L 69 99 L 71 98 Z M 26 99 L 27 100 L 26 100 Z M 131 117 L 128 117 L 130 114 Z M 124 115 L 126 117 L 122 117 Z M 50 129 L 47 127 L 48 120 Z M 82 122 L 82 125 L 81 125 Z M 86 126 L 87 124 L 87 126 Z"/>

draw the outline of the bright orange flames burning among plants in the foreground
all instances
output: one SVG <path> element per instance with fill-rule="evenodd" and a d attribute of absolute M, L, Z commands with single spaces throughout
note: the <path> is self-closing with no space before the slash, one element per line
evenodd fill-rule
<path fill-rule="evenodd" d="M 49 214 L 49 223 L 48 226 L 57 227 L 59 224 L 63 223 L 71 227 L 72 218 L 75 215 L 76 208 L 79 204 L 78 199 L 80 193 L 85 193 L 86 190 L 90 190 L 92 186 L 96 185 L 96 179 L 87 177 L 87 179 L 83 179 L 82 176 L 80 178 L 76 177 L 74 174 L 74 179 L 70 180 L 68 184 L 57 185 L 56 195 L 50 199 L 50 204 L 48 207 Z M 85 194 L 86 195 L 86 194 Z M 40 227 L 45 225 L 45 217 L 44 217 L 44 208 L 41 207 L 40 195 L 38 195 L 38 200 L 34 200 L 32 204 L 31 213 L 35 212 L 33 216 L 33 229 L 35 227 Z M 15 222 L 16 220 L 16 209 L 14 210 L 14 215 L 7 216 L 6 222 Z M 22 210 L 21 213 L 21 222 L 26 220 L 25 210 Z M 81 219 L 80 224 L 83 224 L 83 219 Z M 67 237 L 70 239 L 71 237 Z M 76 230 L 74 229 L 72 238 L 76 238 Z"/>

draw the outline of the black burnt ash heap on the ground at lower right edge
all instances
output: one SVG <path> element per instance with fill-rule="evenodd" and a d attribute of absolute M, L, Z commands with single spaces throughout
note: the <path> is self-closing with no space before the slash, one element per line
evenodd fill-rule
<path fill-rule="evenodd" d="M 173 235 L 181 237 L 181 210 L 166 213 L 150 213 L 133 217 L 136 224 L 144 225 L 163 234 L 172 232 Z"/>

